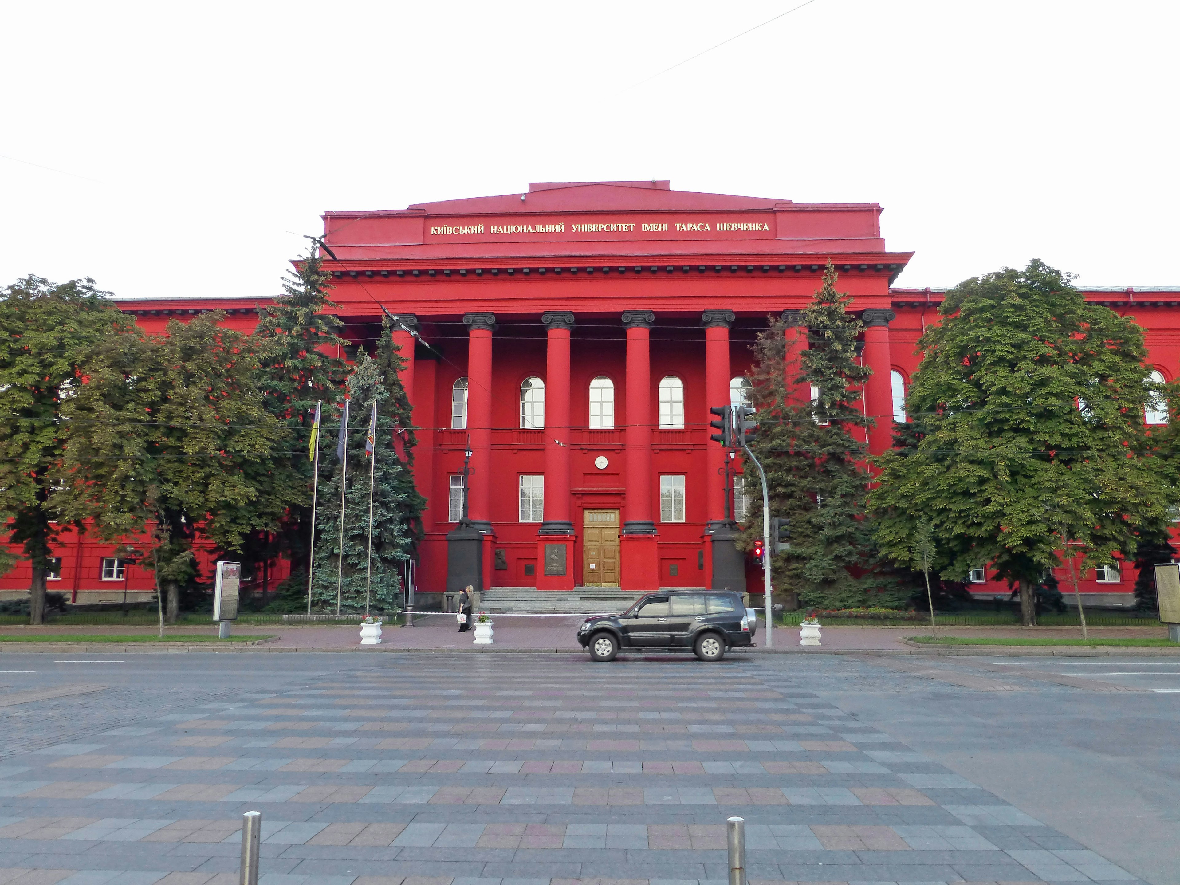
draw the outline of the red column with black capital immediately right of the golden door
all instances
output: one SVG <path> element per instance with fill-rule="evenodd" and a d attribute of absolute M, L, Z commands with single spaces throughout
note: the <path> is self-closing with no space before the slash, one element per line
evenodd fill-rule
<path fill-rule="evenodd" d="M 627 310 L 627 520 L 623 535 L 655 535 L 651 520 L 650 310 Z"/>

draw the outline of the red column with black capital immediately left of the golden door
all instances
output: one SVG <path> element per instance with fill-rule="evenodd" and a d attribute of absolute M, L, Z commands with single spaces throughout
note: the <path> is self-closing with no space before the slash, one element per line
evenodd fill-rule
<path fill-rule="evenodd" d="M 570 332 L 573 314 L 546 312 L 545 520 L 540 535 L 573 535 L 570 519 Z M 572 565 L 572 563 L 571 563 Z"/>

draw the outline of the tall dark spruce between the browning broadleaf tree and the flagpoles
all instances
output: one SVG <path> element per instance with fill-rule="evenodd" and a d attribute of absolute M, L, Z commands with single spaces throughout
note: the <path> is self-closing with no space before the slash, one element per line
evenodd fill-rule
<path fill-rule="evenodd" d="M 258 386 L 267 411 L 290 427 L 293 439 L 307 440 L 312 432 L 316 401 L 327 406 L 339 396 L 348 374 L 343 359 L 348 342 L 340 336 L 345 323 L 329 313 L 336 306 L 328 299 L 332 275 L 313 248 L 288 270 L 283 294 L 258 308 L 254 330 L 258 350 Z M 253 531 L 243 544 L 243 558 L 258 563 L 288 556 L 293 579 L 307 590 L 307 553 L 312 542 L 312 464 L 306 451 L 290 446 L 284 470 L 301 481 L 303 492 L 290 499 L 290 509 L 276 535 Z"/>

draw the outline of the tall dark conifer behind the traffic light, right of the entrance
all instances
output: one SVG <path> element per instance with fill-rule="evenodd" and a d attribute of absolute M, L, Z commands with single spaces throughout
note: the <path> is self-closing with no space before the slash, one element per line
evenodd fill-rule
<path fill-rule="evenodd" d="M 864 519 L 867 447 L 860 437 L 872 419 L 860 408 L 860 387 L 872 369 L 857 362 L 864 330 L 848 312 L 852 299 L 835 290 L 831 262 L 822 287 L 804 310 L 808 348 L 792 354 L 798 376 L 788 378 L 786 324 L 772 317 L 754 345 L 750 371 L 758 409 L 758 441 L 750 448 L 766 471 L 771 513 L 791 520 L 791 546 L 772 559 L 775 586 L 808 608 L 893 607 L 910 589 L 891 586 L 873 569 L 874 551 Z M 811 404 L 793 402 L 791 386 L 818 388 Z M 753 470 L 749 493 L 761 498 Z M 749 549 L 762 537 L 761 509 L 742 533 Z M 795 602 L 795 601 L 792 601 Z"/>

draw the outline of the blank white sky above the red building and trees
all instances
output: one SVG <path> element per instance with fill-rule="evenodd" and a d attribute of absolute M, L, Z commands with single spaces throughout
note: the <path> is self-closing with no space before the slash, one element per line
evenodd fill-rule
<path fill-rule="evenodd" d="M 1180 4 L 814 0 L 635 85 L 799 2 L 8 4 L 0 284 L 262 297 L 323 210 L 632 178 L 1180 284 Z"/>

